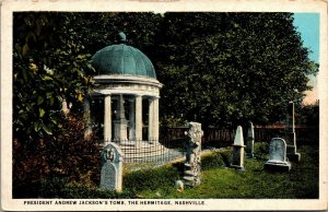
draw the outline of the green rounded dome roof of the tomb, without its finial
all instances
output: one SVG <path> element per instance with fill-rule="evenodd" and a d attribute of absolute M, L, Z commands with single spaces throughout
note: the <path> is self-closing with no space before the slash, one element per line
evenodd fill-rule
<path fill-rule="evenodd" d="M 98 50 L 92 57 L 98 74 L 140 75 L 155 78 L 154 66 L 139 49 L 116 44 Z"/>

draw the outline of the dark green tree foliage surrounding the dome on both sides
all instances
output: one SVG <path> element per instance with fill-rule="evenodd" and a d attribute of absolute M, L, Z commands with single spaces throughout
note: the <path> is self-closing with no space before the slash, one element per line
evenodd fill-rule
<path fill-rule="evenodd" d="M 156 68 L 163 125 L 281 120 L 318 69 L 292 22 L 291 13 L 15 13 L 14 136 L 60 126 L 61 102 L 87 93 L 90 55 L 118 31 Z"/>

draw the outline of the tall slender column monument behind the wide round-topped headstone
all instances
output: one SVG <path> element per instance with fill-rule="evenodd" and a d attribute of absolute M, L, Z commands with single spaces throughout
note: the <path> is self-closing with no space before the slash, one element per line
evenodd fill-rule
<path fill-rule="evenodd" d="M 293 102 L 290 102 L 288 106 L 284 139 L 286 142 L 286 156 L 290 161 L 300 162 L 301 154 L 296 152 L 295 108 Z"/>

